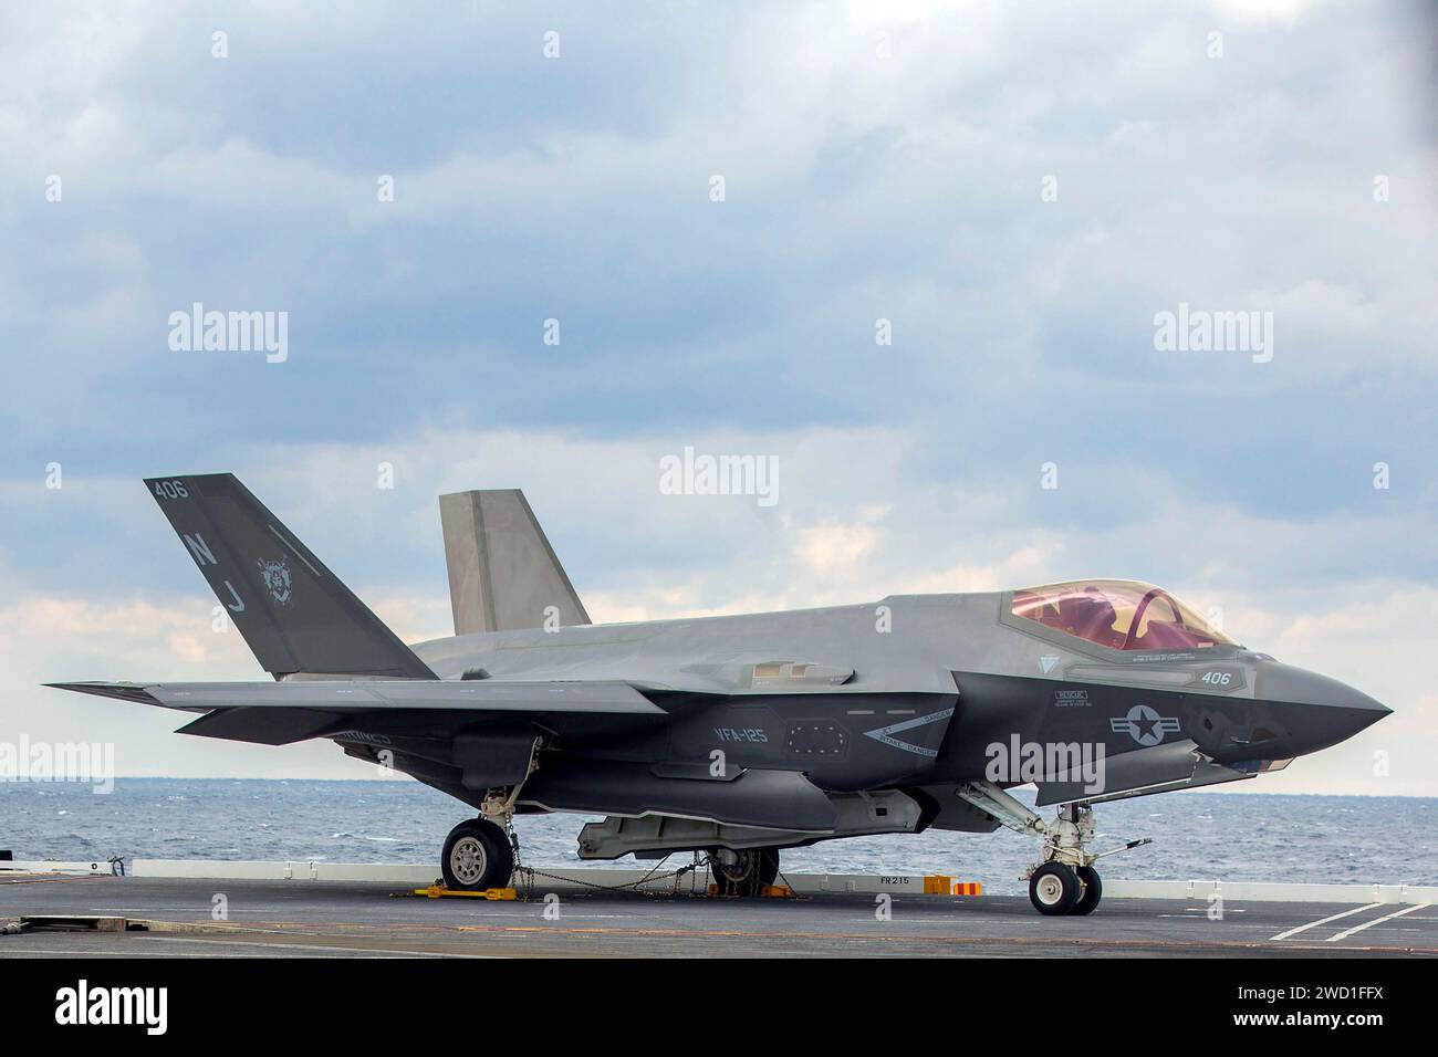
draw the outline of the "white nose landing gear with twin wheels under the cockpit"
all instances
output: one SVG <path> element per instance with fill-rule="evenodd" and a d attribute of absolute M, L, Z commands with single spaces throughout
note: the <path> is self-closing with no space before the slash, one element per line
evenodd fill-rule
<path fill-rule="evenodd" d="M 1025 876 L 1028 902 L 1047 918 L 1093 913 L 1103 899 L 1103 880 L 1093 864 L 1104 856 L 1152 843 L 1145 837 L 1107 851 L 1093 853 L 1089 851 L 1094 837 L 1093 808 L 1087 804 L 1063 804 L 1058 817 L 1045 824 L 1025 804 L 992 782 L 963 785 L 958 794 L 999 824 L 1017 833 L 1038 834 L 1044 838 L 1044 857 L 1031 866 Z"/>

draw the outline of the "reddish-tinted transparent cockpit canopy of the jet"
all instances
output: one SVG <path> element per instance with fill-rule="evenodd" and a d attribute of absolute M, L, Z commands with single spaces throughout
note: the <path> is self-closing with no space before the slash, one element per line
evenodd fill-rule
<path fill-rule="evenodd" d="M 1133 580 L 1073 580 L 1014 591 L 1012 613 L 1110 650 L 1237 644 L 1163 588 Z"/>

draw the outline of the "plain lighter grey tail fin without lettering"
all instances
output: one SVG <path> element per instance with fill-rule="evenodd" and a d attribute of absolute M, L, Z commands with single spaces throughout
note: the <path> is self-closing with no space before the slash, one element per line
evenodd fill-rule
<path fill-rule="evenodd" d="M 440 521 L 454 634 L 590 623 L 523 492 L 441 495 Z"/>

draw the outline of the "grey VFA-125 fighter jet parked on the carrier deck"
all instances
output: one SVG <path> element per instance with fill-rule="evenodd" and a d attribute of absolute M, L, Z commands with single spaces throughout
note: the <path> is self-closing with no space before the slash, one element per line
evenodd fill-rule
<path fill-rule="evenodd" d="M 452 889 L 506 886 L 528 813 L 604 815 L 582 859 L 699 853 L 736 896 L 782 848 L 1007 827 L 1041 841 L 1038 912 L 1084 915 L 1094 863 L 1146 843 L 1093 850 L 1094 804 L 1251 779 L 1389 713 L 1135 581 L 591 624 L 518 490 L 440 496 L 456 634 L 406 646 L 233 475 L 145 485 L 273 682 L 50 686 L 413 775 L 477 813 Z"/>

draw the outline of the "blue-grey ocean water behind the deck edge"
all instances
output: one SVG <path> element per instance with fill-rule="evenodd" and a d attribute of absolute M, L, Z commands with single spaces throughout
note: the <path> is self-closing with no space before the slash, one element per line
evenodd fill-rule
<path fill-rule="evenodd" d="M 315 859 L 437 869 L 450 827 L 472 814 L 407 781 L 124 778 L 104 795 L 81 784 L 0 782 L 0 848 L 16 859 Z M 1438 883 L 1438 798 L 1175 792 L 1103 804 L 1096 815 L 1097 848 L 1153 838 L 1106 859 L 1106 877 Z M 633 866 L 631 859 L 581 863 L 575 837 L 585 821 L 516 818 L 523 861 Z M 945 873 L 1020 893 L 1020 873 L 1037 850 L 1037 840 L 1007 830 L 929 830 L 794 848 L 784 867 Z M 670 864 L 687 860 L 674 856 Z"/>

